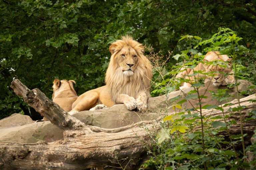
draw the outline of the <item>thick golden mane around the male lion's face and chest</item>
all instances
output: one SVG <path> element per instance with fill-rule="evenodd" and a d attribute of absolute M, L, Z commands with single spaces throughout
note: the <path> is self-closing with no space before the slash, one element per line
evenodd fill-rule
<path fill-rule="evenodd" d="M 116 54 L 123 48 L 133 48 L 138 54 L 137 66 L 132 76 L 125 76 L 121 69 L 118 69 Z M 134 41 L 130 36 L 122 37 L 121 40 L 113 42 L 109 47 L 111 58 L 105 76 L 106 86 L 111 91 L 111 98 L 116 103 L 119 94 L 127 94 L 135 99 L 141 91 L 150 97 L 150 80 L 152 68 L 149 60 L 144 56 L 144 47 L 141 43 Z"/>

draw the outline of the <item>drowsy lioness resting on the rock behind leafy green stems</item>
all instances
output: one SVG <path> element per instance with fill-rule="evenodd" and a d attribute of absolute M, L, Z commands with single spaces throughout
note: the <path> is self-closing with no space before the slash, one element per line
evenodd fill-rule
<path fill-rule="evenodd" d="M 194 83 L 195 79 L 207 78 L 211 79 L 214 86 L 219 87 L 220 85 L 228 85 L 235 83 L 234 72 L 232 70 L 232 58 L 227 55 L 220 55 L 219 51 L 210 51 L 205 54 L 203 62 L 216 61 L 217 64 L 213 63 L 202 63 L 200 62 L 194 69 L 186 68 L 184 71 L 177 74 L 177 78 L 189 79 L 189 82 L 183 82 L 180 89 L 186 89 L 192 86 L 191 82 Z M 226 63 L 223 63 L 226 62 Z M 194 74 L 194 71 L 203 71 L 203 73 L 211 73 L 210 75 L 205 74 Z M 228 74 L 225 76 L 225 74 Z"/>

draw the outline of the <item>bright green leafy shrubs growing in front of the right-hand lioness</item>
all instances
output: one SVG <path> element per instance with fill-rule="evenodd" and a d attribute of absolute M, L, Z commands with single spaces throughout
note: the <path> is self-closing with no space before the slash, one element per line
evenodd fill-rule
<path fill-rule="evenodd" d="M 194 44 L 194 50 L 201 48 L 203 46 L 203 51 L 219 50 L 224 49 L 229 56 L 233 58 L 234 71 L 237 77 L 241 76 L 239 71 L 245 71 L 243 65 L 240 63 L 239 55 L 247 53 L 248 50 L 244 46 L 239 45 L 241 38 L 237 37 L 236 32 L 233 32 L 227 28 L 219 28 L 218 33 L 214 34 L 208 40 L 201 40 L 200 38 L 193 39 L 193 36 L 184 36 L 180 40 L 187 40 L 188 48 L 192 47 Z M 197 42 L 197 44 L 196 44 Z M 175 66 L 173 68 L 182 68 L 185 65 L 186 68 L 194 69 L 195 65 L 202 59 L 201 53 L 198 51 L 190 51 L 189 49 L 182 51 L 182 54 L 176 54 L 173 56 L 176 60 L 182 60 L 180 64 L 182 66 Z M 219 64 L 225 67 L 224 62 L 210 62 L 209 64 Z M 236 66 L 238 65 L 238 67 Z M 184 71 L 184 70 L 180 71 Z M 212 76 L 212 72 L 204 73 L 199 71 L 194 71 L 196 74 L 206 74 L 207 76 Z M 177 70 L 165 73 L 165 75 L 177 74 Z M 194 76 L 192 75 L 192 76 Z M 237 76 L 239 75 L 239 76 Z M 250 75 L 247 75 L 250 77 Z M 162 76 L 164 77 L 164 76 Z M 245 77 L 244 77 L 245 78 Z M 171 78 L 170 78 L 171 79 Z M 163 85 L 163 82 L 160 81 L 157 85 Z M 186 79 L 177 80 L 178 85 L 182 82 L 189 82 Z M 170 83 L 172 88 L 177 87 L 177 85 Z M 166 83 L 164 83 L 166 85 Z M 235 83 L 230 86 L 237 87 L 239 83 Z M 199 88 L 205 86 L 204 79 L 196 79 L 192 87 L 194 90 L 191 90 L 188 93 L 185 93 L 184 99 L 180 99 L 181 96 L 178 96 L 174 99 L 166 100 L 166 108 L 172 108 L 175 113 L 172 115 L 167 115 L 168 111 L 166 110 L 166 116 L 163 118 L 163 125 L 161 125 L 162 130 L 158 132 L 155 136 L 155 143 L 153 149 L 148 151 L 148 154 L 151 154 L 152 157 L 147 160 L 141 167 L 143 168 L 154 168 L 154 169 L 187 169 L 187 170 L 196 170 L 196 169 L 253 169 L 255 167 L 255 161 L 247 163 L 245 151 L 249 150 L 255 153 L 255 145 L 251 145 L 245 148 L 244 137 L 247 134 L 243 134 L 243 123 L 255 119 L 256 111 L 252 111 L 251 117 L 242 120 L 241 123 L 237 123 L 235 120 L 227 121 L 227 118 L 232 116 L 234 113 L 239 112 L 241 116 L 241 110 L 245 109 L 245 106 L 240 106 L 230 108 L 229 111 L 231 114 L 224 115 L 224 109 L 216 105 L 208 105 L 202 102 L 202 99 L 207 98 L 205 93 L 199 94 Z M 165 89 L 168 87 L 165 86 Z M 170 87 L 169 87 L 170 88 Z M 207 91 L 208 87 L 204 87 Z M 252 93 L 251 90 L 255 86 L 248 87 L 248 90 L 241 92 L 243 95 L 249 95 Z M 160 92 L 167 91 L 161 87 L 158 88 Z M 211 92 L 212 97 L 217 99 L 220 102 L 221 106 L 233 105 L 229 102 L 228 99 L 231 97 L 227 93 L 229 89 L 218 89 L 217 92 Z M 255 90 L 255 89 L 254 89 Z M 184 92 L 183 92 L 184 93 Z M 238 93 L 238 92 L 237 92 Z M 238 94 L 236 94 L 238 95 Z M 186 109 L 185 112 L 177 112 L 182 109 L 182 104 L 188 100 L 196 100 L 197 103 L 192 105 L 192 109 Z M 255 101 L 252 101 L 255 102 Z M 224 105 L 224 103 L 226 103 Z M 223 113 L 222 116 L 206 116 L 202 114 L 202 109 L 212 110 L 216 109 Z M 191 112 L 194 111 L 194 112 Z M 229 127 L 231 125 L 239 126 L 241 133 L 238 135 L 230 135 Z M 200 127 L 200 130 L 199 130 Z M 223 135 L 220 135 L 219 132 L 226 131 L 228 138 L 224 138 Z M 235 147 L 236 144 L 242 144 L 242 148 L 239 149 Z"/>

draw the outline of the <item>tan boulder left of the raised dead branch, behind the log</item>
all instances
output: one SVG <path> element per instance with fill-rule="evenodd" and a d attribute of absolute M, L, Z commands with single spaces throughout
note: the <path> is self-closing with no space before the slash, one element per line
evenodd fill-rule
<path fill-rule="evenodd" d="M 0 120 L 0 141 L 36 143 L 39 140 L 53 142 L 63 139 L 63 130 L 50 121 L 35 123 L 29 116 L 13 114 Z"/>

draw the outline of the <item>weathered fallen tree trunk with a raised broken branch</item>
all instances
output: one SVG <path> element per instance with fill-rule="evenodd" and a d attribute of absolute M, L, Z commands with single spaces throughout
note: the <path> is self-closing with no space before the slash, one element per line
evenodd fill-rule
<path fill-rule="evenodd" d="M 40 90 L 29 90 L 19 80 L 11 86 L 17 95 L 33 107 L 52 124 L 64 130 L 64 139 L 51 143 L 38 142 L 13 143 L 0 142 L 0 169 L 138 169 L 146 155 L 145 144 L 150 140 L 150 131 L 160 130 L 156 121 L 140 122 L 131 126 L 103 129 L 86 126 L 76 118 L 63 111 L 49 100 Z M 243 119 L 250 117 L 248 113 L 256 110 L 255 95 L 241 99 L 240 104 L 246 106 L 242 110 Z M 236 107 L 237 102 L 233 106 Z M 229 114 L 229 108 L 224 113 Z M 219 110 L 205 110 L 204 115 L 222 115 Z M 228 121 L 236 120 L 239 124 L 239 113 L 235 113 Z M 244 133 L 252 136 L 256 128 L 256 120 L 244 123 Z M 239 127 L 231 127 L 231 134 L 240 133 Z"/>

